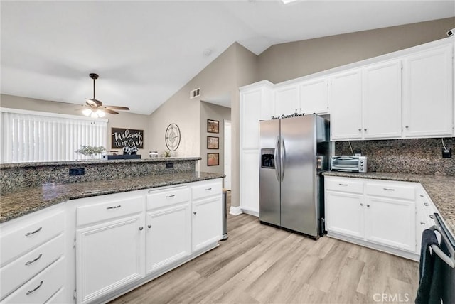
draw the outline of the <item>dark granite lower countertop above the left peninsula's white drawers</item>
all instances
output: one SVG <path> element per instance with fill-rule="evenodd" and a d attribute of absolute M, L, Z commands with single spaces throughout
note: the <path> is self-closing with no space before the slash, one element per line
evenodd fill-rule
<path fill-rule="evenodd" d="M 225 175 L 217 173 L 186 172 L 84 183 L 50 183 L 41 185 L 41 187 L 21 188 L 0 197 L 0 223 L 67 200 L 223 177 Z"/>

